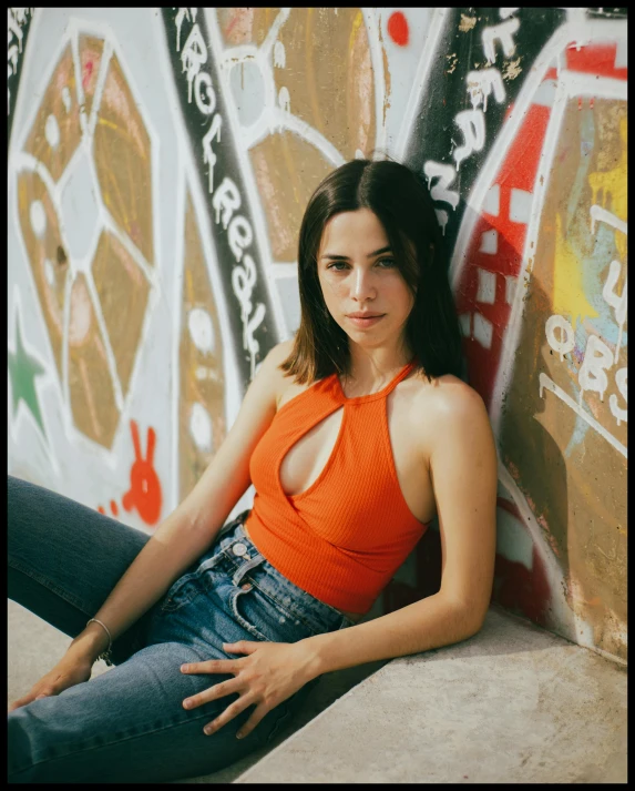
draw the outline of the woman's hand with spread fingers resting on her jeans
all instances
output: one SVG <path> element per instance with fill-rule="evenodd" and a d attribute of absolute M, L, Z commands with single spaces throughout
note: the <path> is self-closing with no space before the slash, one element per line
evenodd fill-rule
<path fill-rule="evenodd" d="M 256 703 L 256 709 L 238 731 L 242 739 L 250 733 L 267 712 L 290 698 L 308 681 L 315 678 L 313 655 L 300 642 L 239 642 L 223 643 L 231 653 L 246 653 L 242 659 L 211 659 L 206 662 L 194 662 L 181 667 L 184 673 L 234 673 L 228 681 L 209 687 L 209 689 L 183 701 L 186 709 L 208 703 L 233 692 L 240 697 L 228 706 L 225 711 L 203 729 L 208 736 L 226 726 L 229 720 Z"/>

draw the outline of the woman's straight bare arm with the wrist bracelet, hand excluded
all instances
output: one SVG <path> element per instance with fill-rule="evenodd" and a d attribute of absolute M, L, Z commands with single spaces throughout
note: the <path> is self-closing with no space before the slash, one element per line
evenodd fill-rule
<path fill-rule="evenodd" d="M 160 525 L 113 591 L 93 613 L 113 640 L 134 623 L 172 582 L 201 556 L 250 484 L 249 458 L 276 414 L 283 378 L 278 365 L 289 342 L 275 346 L 249 385 L 240 410 L 224 443 L 196 486 Z M 107 636 L 90 623 L 69 650 L 93 661 L 106 648 Z"/>

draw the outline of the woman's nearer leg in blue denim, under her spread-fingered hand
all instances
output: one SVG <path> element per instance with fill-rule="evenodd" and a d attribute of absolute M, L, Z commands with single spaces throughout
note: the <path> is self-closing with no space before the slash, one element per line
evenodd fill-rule
<path fill-rule="evenodd" d="M 147 646 L 85 683 L 11 712 L 9 781 L 167 782 L 217 771 L 265 746 L 304 696 L 272 710 L 244 739 L 236 731 L 253 707 L 205 736 L 204 726 L 237 697 L 183 708 L 185 698 L 229 678 L 180 671 L 207 658 L 183 643 Z"/>

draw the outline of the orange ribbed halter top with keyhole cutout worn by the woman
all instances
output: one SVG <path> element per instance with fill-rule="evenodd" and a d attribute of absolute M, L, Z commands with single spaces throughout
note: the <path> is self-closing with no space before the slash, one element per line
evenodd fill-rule
<path fill-rule="evenodd" d="M 367 612 L 428 527 L 401 494 L 386 410 L 388 394 L 413 365 L 356 398 L 344 395 L 337 374 L 320 379 L 283 405 L 252 454 L 252 541 L 287 579 L 339 610 Z M 280 484 L 287 452 L 341 406 L 325 468 L 308 489 L 287 496 Z"/>

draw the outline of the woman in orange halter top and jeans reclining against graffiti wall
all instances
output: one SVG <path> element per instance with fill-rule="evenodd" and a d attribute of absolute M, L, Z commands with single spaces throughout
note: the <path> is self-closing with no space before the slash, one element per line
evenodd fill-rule
<path fill-rule="evenodd" d="M 73 637 L 10 707 L 10 781 L 205 774 L 263 747 L 320 675 L 480 629 L 496 456 L 441 250 L 407 168 L 342 165 L 303 220 L 295 339 L 152 537 L 9 478 L 10 596 Z M 433 517 L 439 592 L 355 625 Z M 83 683 L 106 650 L 115 667 Z"/>

